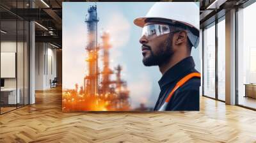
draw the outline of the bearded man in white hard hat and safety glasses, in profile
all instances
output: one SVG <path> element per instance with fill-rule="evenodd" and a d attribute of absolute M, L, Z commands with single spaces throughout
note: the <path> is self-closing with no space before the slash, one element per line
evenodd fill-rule
<path fill-rule="evenodd" d="M 190 56 L 199 41 L 199 7 L 195 3 L 156 3 L 134 24 L 143 27 L 143 64 L 159 66 L 163 75 L 154 110 L 199 110 L 200 73 Z"/>

